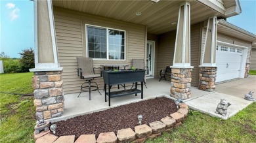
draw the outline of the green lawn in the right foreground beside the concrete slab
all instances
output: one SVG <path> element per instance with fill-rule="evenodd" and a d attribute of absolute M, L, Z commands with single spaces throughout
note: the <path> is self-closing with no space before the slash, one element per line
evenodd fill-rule
<path fill-rule="evenodd" d="M 152 142 L 256 142 L 256 103 L 228 120 L 190 112 L 184 124 Z"/>

